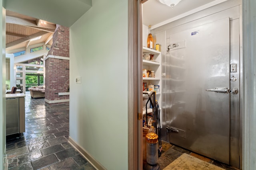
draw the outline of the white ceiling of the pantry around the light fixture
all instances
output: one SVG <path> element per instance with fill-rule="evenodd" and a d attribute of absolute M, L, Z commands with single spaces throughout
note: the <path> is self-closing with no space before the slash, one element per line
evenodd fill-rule
<path fill-rule="evenodd" d="M 148 0 L 142 4 L 142 23 L 146 26 L 156 25 L 177 16 L 191 14 L 219 4 L 226 0 L 182 0 L 172 9 L 158 0 Z"/>

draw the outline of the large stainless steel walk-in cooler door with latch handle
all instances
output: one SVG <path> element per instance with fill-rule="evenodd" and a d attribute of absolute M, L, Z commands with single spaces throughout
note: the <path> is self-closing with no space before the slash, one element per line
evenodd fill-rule
<path fill-rule="evenodd" d="M 167 46 L 170 143 L 228 164 L 229 18 L 172 34 Z"/>

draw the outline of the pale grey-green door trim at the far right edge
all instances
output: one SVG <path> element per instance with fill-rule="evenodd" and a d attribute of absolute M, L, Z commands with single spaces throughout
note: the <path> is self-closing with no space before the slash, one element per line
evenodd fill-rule
<path fill-rule="evenodd" d="M 242 152 L 243 170 L 256 169 L 255 158 L 256 158 L 256 134 L 255 134 L 255 121 L 256 121 L 256 35 L 255 35 L 255 16 L 256 11 L 255 0 L 242 0 L 242 46 L 243 46 L 243 86 L 244 94 L 241 102 L 242 107 Z"/>

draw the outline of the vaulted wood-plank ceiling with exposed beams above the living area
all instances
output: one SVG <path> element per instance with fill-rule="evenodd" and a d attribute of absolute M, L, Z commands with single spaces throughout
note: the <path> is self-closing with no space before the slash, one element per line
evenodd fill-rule
<path fill-rule="evenodd" d="M 51 46 L 55 29 L 55 23 L 6 10 L 6 52 L 38 43 Z M 40 36 L 40 39 L 33 40 Z"/>

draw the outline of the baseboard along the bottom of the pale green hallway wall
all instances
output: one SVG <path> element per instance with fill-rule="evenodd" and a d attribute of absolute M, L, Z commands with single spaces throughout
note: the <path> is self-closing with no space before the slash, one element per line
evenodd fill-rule
<path fill-rule="evenodd" d="M 102 166 L 95 158 L 93 158 L 83 147 L 80 147 L 71 137 L 68 137 L 68 142 L 76 149 L 78 152 L 84 156 L 84 158 L 96 169 L 96 170 L 107 170 Z"/>

